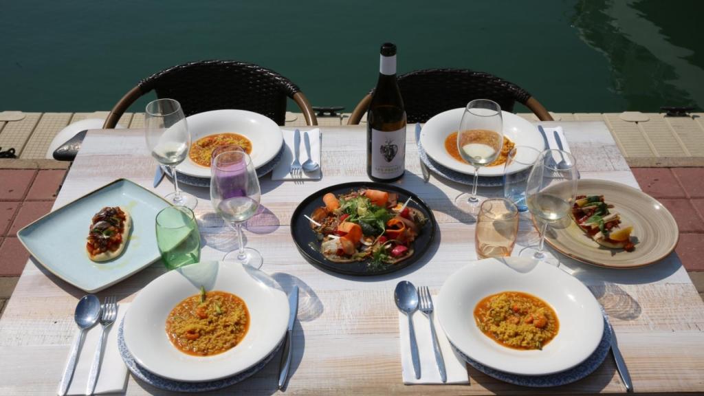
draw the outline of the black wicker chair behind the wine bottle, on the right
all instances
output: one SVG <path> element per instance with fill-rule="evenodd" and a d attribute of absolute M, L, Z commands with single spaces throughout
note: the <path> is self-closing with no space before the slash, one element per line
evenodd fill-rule
<path fill-rule="evenodd" d="M 543 105 L 525 89 L 489 73 L 447 68 L 415 70 L 398 76 L 398 88 L 401 89 L 408 123 L 425 123 L 438 113 L 465 107 L 473 99 L 491 99 L 502 110 L 511 112 L 518 101 L 540 120 L 553 120 Z M 360 122 L 369 108 L 372 92 L 357 104 L 348 125 Z"/>

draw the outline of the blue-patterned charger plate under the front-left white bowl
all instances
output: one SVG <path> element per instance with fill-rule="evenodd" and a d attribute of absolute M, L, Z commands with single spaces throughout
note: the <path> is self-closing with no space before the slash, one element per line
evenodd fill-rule
<path fill-rule="evenodd" d="M 130 370 L 130 373 L 132 373 L 133 376 L 139 378 L 140 380 L 143 380 L 149 385 L 155 388 L 169 390 L 172 392 L 208 392 L 209 390 L 227 388 L 228 386 L 232 386 L 236 383 L 239 383 L 240 381 L 249 378 L 254 373 L 263 369 L 264 366 L 266 366 L 269 361 L 271 361 L 275 354 L 279 352 L 279 349 L 283 344 L 282 340 L 282 342 L 279 342 L 279 345 L 277 345 L 277 347 L 275 347 L 274 350 L 270 354 L 268 354 L 264 359 L 259 361 L 254 366 L 251 366 L 249 369 L 246 369 L 245 371 L 242 371 L 241 373 L 238 373 L 232 377 L 206 382 L 184 382 L 170 380 L 168 378 L 157 376 L 156 374 L 151 373 L 151 371 L 144 369 L 144 367 L 139 366 L 139 364 L 134 361 L 134 357 L 132 357 L 132 354 L 130 354 L 130 349 L 127 349 L 127 344 L 125 344 L 125 335 L 122 331 L 122 326 L 124 323 L 125 319 L 123 318 L 120 322 L 120 328 L 118 329 L 118 350 L 120 351 L 120 357 L 122 357 L 122 361 L 125 361 L 125 366 L 127 366 L 127 369 Z"/>

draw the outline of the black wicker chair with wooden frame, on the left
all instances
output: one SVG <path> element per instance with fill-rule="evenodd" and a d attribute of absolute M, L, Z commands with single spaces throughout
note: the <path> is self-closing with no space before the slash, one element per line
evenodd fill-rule
<path fill-rule="evenodd" d="M 306 125 L 318 125 L 301 89 L 275 71 L 246 62 L 199 61 L 162 70 L 140 81 L 115 104 L 103 128 L 115 128 L 125 110 L 151 90 L 159 98 L 179 101 L 186 116 L 240 109 L 268 116 L 278 125 L 286 121 L 286 101 L 291 98 L 306 117 Z"/>

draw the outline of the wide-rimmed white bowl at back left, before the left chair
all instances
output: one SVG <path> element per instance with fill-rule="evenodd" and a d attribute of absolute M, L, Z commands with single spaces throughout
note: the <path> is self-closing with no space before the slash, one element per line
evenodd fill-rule
<path fill-rule="evenodd" d="M 265 165 L 278 154 L 284 144 L 279 125 L 267 116 L 246 110 L 214 110 L 187 117 L 191 144 L 201 137 L 218 133 L 238 133 L 252 142 L 254 168 Z M 190 176 L 210 178 L 210 167 L 200 166 L 187 157 L 176 170 Z"/>

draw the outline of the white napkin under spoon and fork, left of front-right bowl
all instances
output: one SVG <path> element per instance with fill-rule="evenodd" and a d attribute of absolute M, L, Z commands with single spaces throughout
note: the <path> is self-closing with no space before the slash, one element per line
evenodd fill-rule
<path fill-rule="evenodd" d="M 433 302 L 437 301 L 436 297 L 437 296 L 432 296 Z M 437 312 L 437 304 L 435 304 L 435 306 Z M 438 337 L 438 344 L 440 345 L 442 357 L 445 361 L 445 371 L 447 373 L 446 383 L 470 383 L 465 361 L 455 354 L 452 345 L 450 345 L 450 342 L 440 327 L 437 314 L 434 312 L 432 316 L 433 322 L 435 323 L 435 334 Z M 406 385 L 443 383 L 440 379 L 440 372 L 438 371 L 438 366 L 435 361 L 433 341 L 430 335 L 430 322 L 421 311 L 415 311 L 413 314 L 413 328 L 415 329 L 415 340 L 418 344 L 420 379 L 415 379 L 413 360 L 410 357 L 408 318 L 406 318 L 406 314 L 398 311 L 398 330 L 401 333 L 401 373 L 403 375 L 403 383 Z"/>

